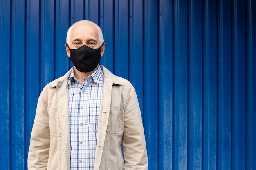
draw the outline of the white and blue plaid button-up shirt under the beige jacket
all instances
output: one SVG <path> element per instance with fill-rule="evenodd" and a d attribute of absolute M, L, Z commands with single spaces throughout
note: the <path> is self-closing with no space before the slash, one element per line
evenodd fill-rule
<path fill-rule="evenodd" d="M 74 68 L 68 79 L 70 170 L 94 169 L 103 84 L 104 73 L 100 66 L 83 84 L 76 79 Z"/>

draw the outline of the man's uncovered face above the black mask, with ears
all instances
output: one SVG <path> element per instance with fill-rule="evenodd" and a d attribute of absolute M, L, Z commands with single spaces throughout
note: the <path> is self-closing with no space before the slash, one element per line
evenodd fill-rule
<path fill-rule="evenodd" d="M 94 25 L 76 25 L 71 31 L 69 42 L 70 49 L 78 49 L 82 45 L 98 49 L 101 44 L 99 42 L 98 30 Z M 101 57 L 104 54 L 105 44 L 101 47 Z M 67 56 L 70 57 L 70 50 L 66 45 Z"/>

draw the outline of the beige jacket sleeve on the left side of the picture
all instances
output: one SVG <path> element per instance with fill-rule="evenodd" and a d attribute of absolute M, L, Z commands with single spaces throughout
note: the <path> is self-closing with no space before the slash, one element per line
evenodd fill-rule
<path fill-rule="evenodd" d="M 46 170 L 49 157 L 50 134 L 47 100 L 44 91 L 38 98 L 36 117 L 31 132 L 28 170 Z"/>

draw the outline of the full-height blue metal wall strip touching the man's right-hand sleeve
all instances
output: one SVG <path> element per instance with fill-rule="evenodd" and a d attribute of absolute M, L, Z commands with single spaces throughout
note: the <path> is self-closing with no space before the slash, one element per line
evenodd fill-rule
<path fill-rule="evenodd" d="M 145 2 L 145 15 L 144 18 L 144 117 L 145 124 L 151 124 L 152 126 L 145 126 L 145 132 L 147 134 L 146 142 L 151 145 L 151 149 L 148 150 L 150 156 L 149 162 L 152 165 L 149 169 L 157 169 L 157 137 L 158 137 L 158 59 L 157 59 L 157 34 L 158 15 L 155 15 L 158 11 L 157 2 L 155 0 L 148 0 Z"/>

